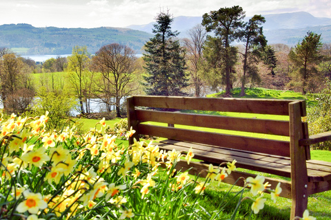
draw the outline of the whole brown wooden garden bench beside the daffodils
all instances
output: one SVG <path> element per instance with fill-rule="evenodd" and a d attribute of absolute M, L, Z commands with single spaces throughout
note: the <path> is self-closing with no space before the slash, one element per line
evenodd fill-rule
<path fill-rule="evenodd" d="M 281 182 L 283 190 L 280 196 L 292 199 L 291 219 L 302 217 L 308 195 L 331 190 L 331 163 L 310 159 L 310 144 L 331 140 L 331 133 L 309 137 L 308 124 L 303 118 L 306 116 L 304 100 L 133 96 L 127 101 L 128 126 L 136 131 L 130 143 L 133 143 L 133 138 L 139 140 L 141 134 L 165 137 L 167 140 L 159 143 L 163 149 L 187 152 L 192 147 L 194 158 L 203 162 L 177 164 L 180 168 L 193 166 L 190 173 L 208 169 L 210 163 L 218 166 L 236 159 L 237 167 L 289 177 L 290 181 L 265 179 L 273 187 Z M 182 110 L 221 111 L 226 115 L 231 115 L 228 112 L 254 113 L 261 114 L 261 117 L 245 114 L 248 115 L 245 118 L 234 118 L 225 114 L 183 113 Z M 287 116 L 280 117 L 285 120 L 275 120 L 274 115 Z M 165 126 L 146 122 L 163 122 Z M 192 126 L 192 129 L 180 128 L 179 124 Z M 224 130 L 206 132 L 199 131 L 199 127 Z M 219 133 L 225 130 L 228 134 Z M 243 134 L 232 135 L 231 131 Z M 279 135 L 281 140 L 268 135 Z M 239 177 L 254 176 L 237 171 L 224 181 L 234 184 Z M 238 184 L 243 186 L 243 181 Z"/>

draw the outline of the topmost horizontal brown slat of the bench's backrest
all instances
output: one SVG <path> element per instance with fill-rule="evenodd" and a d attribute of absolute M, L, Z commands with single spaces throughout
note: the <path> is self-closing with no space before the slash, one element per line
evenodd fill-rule
<path fill-rule="evenodd" d="M 266 100 L 249 98 L 192 98 L 175 96 L 133 97 L 134 105 L 140 107 L 201 111 L 230 111 L 270 115 L 288 115 L 288 104 L 293 102 L 293 100 Z"/>

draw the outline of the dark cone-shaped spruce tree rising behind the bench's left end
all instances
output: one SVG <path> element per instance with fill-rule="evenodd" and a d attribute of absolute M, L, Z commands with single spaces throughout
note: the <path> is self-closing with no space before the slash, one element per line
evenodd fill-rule
<path fill-rule="evenodd" d="M 145 45 L 146 54 L 146 94 L 152 96 L 183 96 L 184 87 L 188 86 L 185 74 L 185 58 L 183 48 L 174 38 L 179 34 L 172 32 L 170 24 L 173 18 L 169 12 L 157 14 L 157 23 L 152 32 L 154 38 Z"/>

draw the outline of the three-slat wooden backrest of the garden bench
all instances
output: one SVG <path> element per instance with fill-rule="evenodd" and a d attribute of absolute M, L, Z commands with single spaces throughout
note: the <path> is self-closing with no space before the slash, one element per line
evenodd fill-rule
<path fill-rule="evenodd" d="M 301 117 L 306 115 L 304 100 L 266 100 L 242 98 L 192 98 L 169 96 L 132 96 L 128 101 L 129 127 L 136 130 L 132 138 L 138 135 L 153 135 L 170 140 L 197 142 L 225 148 L 234 148 L 257 153 L 268 153 L 290 157 L 290 118 L 289 104 L 297 103 L 302 137 L 308 138 L 308 129 Z M 157 109 L 159 110 L 157 110 Z M 168 109 L 170 111 L 165 111 Z M 183 113 L 182 110 L 221 111 L 237 113 L 268 114 L 251 118 L 238 118 L 225 115 Z M 292 113 L 293 115 L 294 113 Z M 230 114 L 228 114 L 230 115 Z M 288 115 L 285 120 L 274 119 L 271 115 Z M 143 122 L 163 122 L 170 126 L 159 126 Z M 171 126 L 174 124 L 174 126 Z M 179 128 L 178 124 L 192 126 L 191 129 Z M 194 127 L 230 130 L 230 133 L 198 131 Z M 285 136 L 283 140 L 263 138 L 263 135 L 232 135 L 231 131 L 243 131 L 265 135 Z M 297 131 L 296 131 L 297 132 Z M 132 139 L 130 140 L 132 143 Z M 310 159 L 309 151 L 305 153 Z"/>

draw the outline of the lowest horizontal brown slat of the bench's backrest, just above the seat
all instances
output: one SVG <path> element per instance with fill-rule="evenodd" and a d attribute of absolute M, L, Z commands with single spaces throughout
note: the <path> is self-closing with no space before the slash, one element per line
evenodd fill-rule
<path fill-rule="evenodd" d="M 285 141 L 268 140 L 237 135 L 225 135 L 220 133 L 202 131 L 191 131 L 186 129 L 154 126 L 148 124 L 139 124 L 138 129 L 139 133 L 141 134 L 165 137 L 172 140 L 197 142 L 201 144 L 223 146 L 226 148 L 235 148 L 244 151 L 268 153 L 285 157 L 290 156 L 289 142 Z"/>

